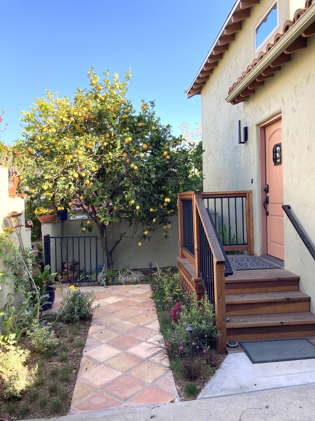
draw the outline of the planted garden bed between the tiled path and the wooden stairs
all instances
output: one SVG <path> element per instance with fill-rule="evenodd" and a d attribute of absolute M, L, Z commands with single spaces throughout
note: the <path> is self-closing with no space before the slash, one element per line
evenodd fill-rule
<path fill-rule="evenodd" d="M 165 345 L 157 354 L 168 357 L 181 401 L 196 399 L 221 366 L 225 354 L 216 351 L 218 332 L 213 307 L 206 299 L 197 303 L 180 289 L 177 269 L 158 269 L 151 281 L 160 332 Z M 193 326 L 192 358 L 187 327 Z"/>

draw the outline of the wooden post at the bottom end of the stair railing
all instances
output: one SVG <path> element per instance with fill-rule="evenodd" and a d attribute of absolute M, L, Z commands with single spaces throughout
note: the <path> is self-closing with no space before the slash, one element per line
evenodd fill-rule
<path fill-rule="evenodd" d="M 225 309 L 225 274 L 224 263 L 213 262 L 213 277 L 214 277 L 214 291 L 215 291 L 215 313 L 216 326 L 220 333 L 217 339 L 217 351 L 222 354 L 226 348 L 226 309 Z"/>

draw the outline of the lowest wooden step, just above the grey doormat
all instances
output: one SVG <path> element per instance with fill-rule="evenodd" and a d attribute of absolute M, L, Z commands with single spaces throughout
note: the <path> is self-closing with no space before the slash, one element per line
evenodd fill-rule
<path fill-rule="evenodd" d="M 226 323 L 226 335 L 226 340 L 314 336 L 315 315 L 307 311 L 231 316 Z"/>

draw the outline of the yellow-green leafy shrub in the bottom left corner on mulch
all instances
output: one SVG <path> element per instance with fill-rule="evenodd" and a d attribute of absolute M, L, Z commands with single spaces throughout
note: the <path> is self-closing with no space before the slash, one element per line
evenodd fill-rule
<path fill-rule="evenodd" d="M 6 351 L 0 350 L 0 381 L 3 384 L 4 396 L 8 399 L 19 398 L 21 392 L 30 385 L 31 372 L 25 362 L 30 351 L 21 350 L 14 344 L 15 335 L 0 337 L 0 343 Z"/>

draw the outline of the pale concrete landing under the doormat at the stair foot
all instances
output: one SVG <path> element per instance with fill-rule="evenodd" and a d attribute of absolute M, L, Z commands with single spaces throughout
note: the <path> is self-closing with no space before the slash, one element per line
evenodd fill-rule
<path fill-rule="evenodd" d="M 245 353 L 229 354 L 198 399 L 315 383 L 315 359 L 252 364 Z"/>

